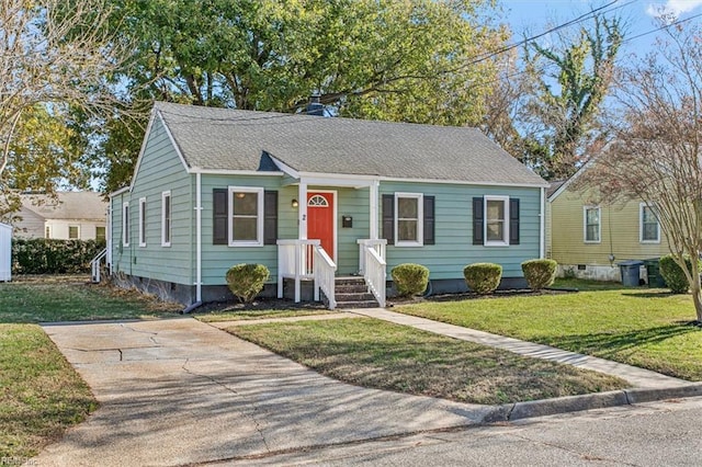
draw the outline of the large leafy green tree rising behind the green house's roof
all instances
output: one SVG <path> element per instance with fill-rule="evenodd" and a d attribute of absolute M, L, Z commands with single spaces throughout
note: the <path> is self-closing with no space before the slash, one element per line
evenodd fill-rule
<path fill-rule="evenodd" d="M 301 112 L 315 92 L 335 115 L 477 125 L 496 70 L 476 57 L 507 37 L 490 0 L 112 2 L 114 30 L 137 44 L 128 92 L 195 105 Z M 109 190 L 138 152 L 118 127 Z"/>

